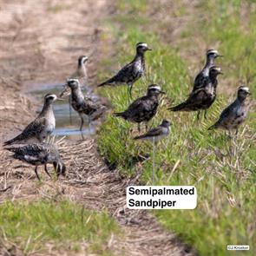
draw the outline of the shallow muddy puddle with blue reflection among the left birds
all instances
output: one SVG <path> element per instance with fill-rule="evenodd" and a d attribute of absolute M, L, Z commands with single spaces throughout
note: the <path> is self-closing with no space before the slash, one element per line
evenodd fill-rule
<path fill-rule="evenodd" d="M 60 82 L 49 82 L 49 83 L 36 83 L 30 84 L 27 87 L 28 92 L 39 102 L 43 104 L 43 97 L 48 93 L 53 93 L 59 95 L 62 92 L 63 86 Z M 89 93 L 84 91 L 84 93 Z M 95 95 L 94 95 L 95 96 Z M 96 96 L 95 96 L 96 97 Z M 42 106 L 43 107 L 43 106 Z M 37 111 L 40 112 L 41 108 Z M 95 123 L 92 122 L 89 125 L 86 117 L 84 116 L 84 123 L 82 132 L 79 130 L 81 119 L 79 115 L 76 114 L 74 109 L 71 107 L 71 123 L 69 119 L 69 97 L 64 98 L 64 101 L 56 101 L 54 103 L 54 113 L 56 116 L 56 129 L 53 135 L 56 136 L 68 136 L 69 139 L 77 140 L 82 139 L 85 136 L 95 135 Z"/>

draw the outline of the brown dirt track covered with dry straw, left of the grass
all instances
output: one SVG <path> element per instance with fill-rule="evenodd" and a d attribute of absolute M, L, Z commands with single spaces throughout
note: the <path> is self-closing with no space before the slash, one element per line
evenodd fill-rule
<path fill-rule="evenodd" d="M 31 82 L 64 81 L 73 72 L 79 55 L 90 56 L 90 82 L 100 57 L 102 21 L 110 15 L 111 4 L 98 1 L 4 1 L 0 0 L 0 143 L 16 135 L 33 120 L 36 105 L 21 92 Z M 100 67 L 97 67 L 100 70 Z M 5 200 L 58 200 L 68 198 L 89 209 L 107 208 L 123 230 L 112 237 L 108 249 L 114 255 L 194 255 L 174 234 L 162 229 L 147 211 L 125 207 L 125 189 L 137 179 L 128 180 L 110 171 L 97 153 L 95 140 L 60 142 L 68 176 L 50 181 L 43 173 L 43 184 L 34 172 L 20 162 L 10 161 L 0 149 L 0 202 Z M 71 154 L 70 154 L 71 153 Z M 72 154 L 75 153 L 75 154 Z M 86 246 L 85 246 L 86 247 Z M 89 255 L 52 250 L 30 255 Z M 0 255 L 23 255 L 8 240 L 0 240 Z"/>

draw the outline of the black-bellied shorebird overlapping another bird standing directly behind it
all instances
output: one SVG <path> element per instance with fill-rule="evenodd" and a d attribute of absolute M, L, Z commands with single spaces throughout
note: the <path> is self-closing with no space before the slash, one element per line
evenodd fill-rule
<path fill-rule="evenodd" d="M 220 68 L 211 67 L 209 76 L 204 80 L 202 86 L 192 91 L 185 102 L 169 109 L 171 111 L 198 111 L 198 118 L 200 110 L 205 110 L 205 117 L 207 117 L 207 109 L 212 106 L 216 98 L 217 76 L 220 74 L 222 74 Z"/>

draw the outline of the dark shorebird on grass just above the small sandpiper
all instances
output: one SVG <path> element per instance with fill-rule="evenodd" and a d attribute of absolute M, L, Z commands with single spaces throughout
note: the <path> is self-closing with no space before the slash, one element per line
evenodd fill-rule
<path fill-rule="evenodd" d="M 133 102 L 124 112 L 114 113 L 114 115 L 121 116 L 128 121 L 137 122 L 139 132 L 141 130 L 140 123 L 145 121 L 146 129 L 148 129 L 147 123 L 156 114 L 160 94 L 165 94 L 161 91 L 161 87 L 157 84 L 151 84 L 148 86 L 147 95 L 135 100 L 135 102 Z"/>

